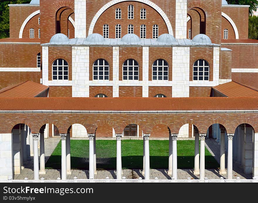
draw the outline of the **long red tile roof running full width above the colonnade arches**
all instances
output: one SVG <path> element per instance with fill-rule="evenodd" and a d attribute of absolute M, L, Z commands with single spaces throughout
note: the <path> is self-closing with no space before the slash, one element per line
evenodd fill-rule
<path fill-rule="evenodd" d="M 0 98 L 0 110 L 258 110 L 258 98 Z"/>

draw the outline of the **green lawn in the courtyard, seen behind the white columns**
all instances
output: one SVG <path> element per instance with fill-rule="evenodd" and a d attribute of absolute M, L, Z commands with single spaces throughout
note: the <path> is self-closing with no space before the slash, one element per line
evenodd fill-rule
<path fill-rule="evenodd" d="M 150 140 L 150 168 L 168 168 L 169 140 Z M 142 169 L 143 141 L 122 140 L 123 169 Z M 116 169 L 116 140 L 96 140 L 97 168 Z M 177 141 L 177 167 L 194 166 L 194 140 Z M 218 168 L 218 162 L 205 148 L 205 168 Z M 61 168 L 61 142 L 46 163 L 48 169 Z M 71 168 L 89 169 L 89 140 L 71 140 Z"/>

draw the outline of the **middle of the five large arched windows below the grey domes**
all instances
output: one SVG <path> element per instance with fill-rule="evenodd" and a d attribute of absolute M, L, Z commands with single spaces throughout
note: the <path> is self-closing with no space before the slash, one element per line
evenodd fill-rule
<path fill-rule="evenodd" d="M 128 59 L 123 64 L 123 80 L 138 80 L 139 64 L 134 59 Z"/>

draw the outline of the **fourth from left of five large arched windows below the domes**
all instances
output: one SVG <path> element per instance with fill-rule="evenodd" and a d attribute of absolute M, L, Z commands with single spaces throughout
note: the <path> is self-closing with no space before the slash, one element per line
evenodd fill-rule
<path fill-rule="evenodd" d="M 152 80 L 168 80 L 168 63 L 164 59 L 155 60 L 152 64 Z"/>

